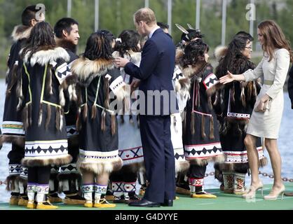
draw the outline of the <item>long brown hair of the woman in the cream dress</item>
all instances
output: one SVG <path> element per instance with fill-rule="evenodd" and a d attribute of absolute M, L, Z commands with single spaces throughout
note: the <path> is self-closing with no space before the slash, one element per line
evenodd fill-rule
<path fill-rule="evenodd" d="M 285 38 L 282 29 L 273 21 L 265 20 L 261 22 L 258 27 L 260 34 L 264 36 L 264 44 L 262 50 L 268 53 L 269 62 L 273 59 L 273 51 L 277 48 L 285 48 L 289 51 L 290 61 L 293 61 L 292 49 L 289 41 Z"/>

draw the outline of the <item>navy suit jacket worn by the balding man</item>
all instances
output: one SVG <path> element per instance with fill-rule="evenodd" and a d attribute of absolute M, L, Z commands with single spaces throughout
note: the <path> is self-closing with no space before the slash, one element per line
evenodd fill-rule
<path fill-rule="evenodd" d="M 174 68 L 175 46 L 172 39 L 163 29 L 157 29 L 144 44 L 140 66 L 129 62 L 124 68 L 125 73 L 141 80 L 139 90 L 144 92 L 146 100 L 144 105 L 139 105 L 140 111 L 144 106 L 145 113 L 149 116 L 164 116 L 177 112 L 176 95 L 172 85 Z M 161 97 L 156 100 L 154 94 L 148 90 L 157 90 Z M 148 100 L 153 103 L 148 105 Z"/>

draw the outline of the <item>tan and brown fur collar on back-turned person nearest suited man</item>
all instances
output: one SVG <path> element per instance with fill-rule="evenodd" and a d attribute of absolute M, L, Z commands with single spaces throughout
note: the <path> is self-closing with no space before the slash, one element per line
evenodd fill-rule
<path fill-rule="evenodd" d="M 108 70 L 114 69 L 112 60 L 96 59 L 90 60 L 86 57 L 76 59 L 71 66 L 71 72 L 76 74 L 79 82 L 83 85 L 90 85 L 97 76 L 104 76 Z"/>

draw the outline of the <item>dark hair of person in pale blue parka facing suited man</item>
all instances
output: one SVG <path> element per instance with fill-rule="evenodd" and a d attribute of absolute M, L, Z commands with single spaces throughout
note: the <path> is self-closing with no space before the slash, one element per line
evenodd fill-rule
<path fill-rule="evenodd" d="M 136 31 L 125 29 L 118 38 L 121 38 L 121 42 L 116 41 L 114 50 L 118 51 L 121 57 L 123 57 L 128 50 L 132 50 L 133 52 L 140 51 L 138 47 L 140 36 Z"/>

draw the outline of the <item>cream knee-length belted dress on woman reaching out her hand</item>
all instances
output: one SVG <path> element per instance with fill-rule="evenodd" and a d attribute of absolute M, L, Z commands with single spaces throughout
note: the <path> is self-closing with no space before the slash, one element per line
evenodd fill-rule
<path fill-rule="evenodd" d="M 245 82 L 263 76 L 263 85 L 257 96 L 254 109 L 264 94 L 268 94 L 271 97 L 271 102 L 268 103 L 266 112 L 252 112 L 250 123 L 247 126 L 247 134 L 266 139 L 278 139 L 284 107 L 282 87 L 289 69 L 289 52 L 284 48 L 276 49 L 271 62 L 268 62 L 268 60 L 269 57 L 265 54 L 254 70 L 250 69 L 243 73 Z"/>

